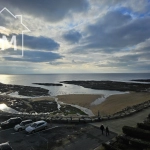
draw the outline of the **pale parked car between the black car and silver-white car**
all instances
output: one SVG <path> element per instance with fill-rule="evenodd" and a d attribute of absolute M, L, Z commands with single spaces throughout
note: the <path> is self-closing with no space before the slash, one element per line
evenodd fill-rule
<path fill-rule="evenodd" d="M 20 124 L 15 125 L 15 131 L 22 131 L 33 123 L 32 120 L 24 120 Z"/>

